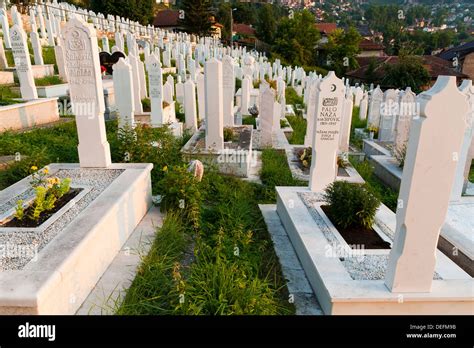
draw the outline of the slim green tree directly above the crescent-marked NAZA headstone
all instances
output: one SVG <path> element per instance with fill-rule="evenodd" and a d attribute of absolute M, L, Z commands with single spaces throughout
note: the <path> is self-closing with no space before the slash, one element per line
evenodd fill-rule
<path fill-rule="evenodd" d="M 361 40 L 362 37 L 354 27 L 350 27 L 347 31 L 336 29 L 329 34 L 325 46 L 328 65 L 339 77 L 359 67 L 356 57 L 360 53 Z"/>

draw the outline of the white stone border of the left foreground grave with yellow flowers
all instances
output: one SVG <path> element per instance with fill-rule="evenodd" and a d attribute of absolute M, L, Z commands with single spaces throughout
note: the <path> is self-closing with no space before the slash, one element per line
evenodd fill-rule
<path fill-rule="evenodd" d="M 79 169 L 52 164 L 50 171 Z M 152 164 L 111 164 L 123 170 L 23 269 L 0 272 L 0 314 L 74 314 L 152 206 Z M 2 191 L 15 197 L 22 180 Z"/>

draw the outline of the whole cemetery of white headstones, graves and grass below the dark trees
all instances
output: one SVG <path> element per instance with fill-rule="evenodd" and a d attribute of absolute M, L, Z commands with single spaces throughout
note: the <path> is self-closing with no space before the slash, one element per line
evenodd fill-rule
<path fill-rule="evenodd" d="M 58 6 L 31 43 L 0 12 L 2 313 L 469 313 L 472 81 L 383 92 Z"/>

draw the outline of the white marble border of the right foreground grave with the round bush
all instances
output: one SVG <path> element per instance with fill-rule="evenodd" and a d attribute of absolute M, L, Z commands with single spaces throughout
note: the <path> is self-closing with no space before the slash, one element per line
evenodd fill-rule
<path fill-rule="evenodd" d="M 441 251 L 436 272 L 442 280 L 433 281 L 431 293 L 392 293 L 383 280 L 354 280 L 339 258 L 326 255 L 328 241 L 298 195 L 309 188 L 276 191 L 277 213 L 325 314 L 472 314 L 472 278 Z M 376 220 L 385 234 L 395 229 L 393 212 L 379 211 Z"/>

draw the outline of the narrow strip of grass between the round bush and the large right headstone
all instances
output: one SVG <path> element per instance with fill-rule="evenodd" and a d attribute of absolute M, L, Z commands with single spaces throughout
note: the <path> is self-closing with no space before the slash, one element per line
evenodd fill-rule
<path fill-rule="evenodd" d="M 357 172 L 366 181 L 369 188 L 374 192 L 380 201 L 393 212 L 397 211 L 398 192 L 385 185 L 377 176 L 374 175 L 374 167 L 365 160 L 358 162 L 350 156 L 350 162 Z"/>

